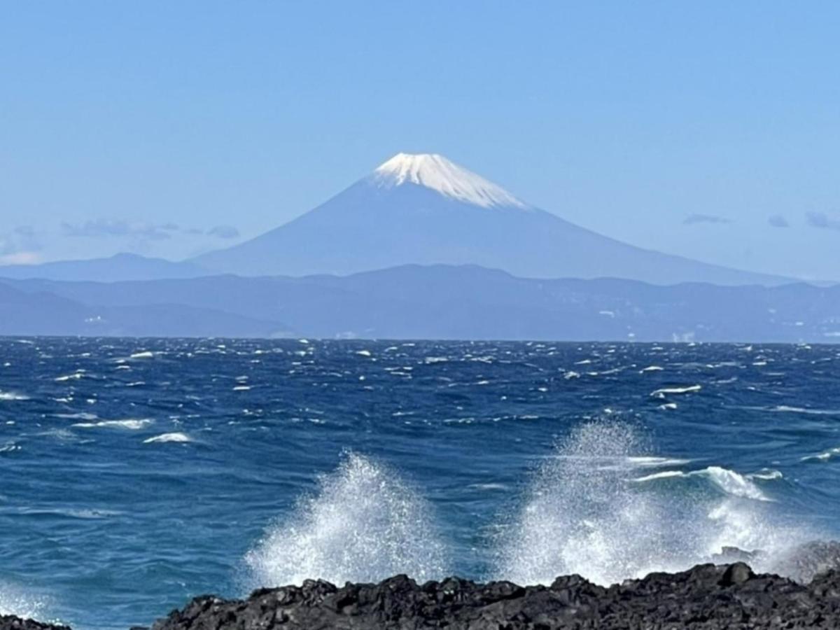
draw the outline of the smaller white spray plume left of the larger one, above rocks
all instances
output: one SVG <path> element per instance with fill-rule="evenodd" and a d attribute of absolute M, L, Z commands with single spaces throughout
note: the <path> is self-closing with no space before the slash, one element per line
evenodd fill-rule
<path fill-rule="evenodd" d="M 343 584 L 400 573 L 440 579 L 446 554 L 431 515 L 428 501 L 393 470 L 350 453 L 245 559 L 257 585 L 314 578 Z"/>

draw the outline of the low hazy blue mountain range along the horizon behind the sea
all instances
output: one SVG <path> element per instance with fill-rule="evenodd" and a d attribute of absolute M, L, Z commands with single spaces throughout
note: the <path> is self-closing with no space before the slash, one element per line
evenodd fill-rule
<path fill-rule="evenodd" d="M 840 339 L 840 286 L 523 279 L 475 265 L 3 280 L 0 334 L 832 342 Z"/>

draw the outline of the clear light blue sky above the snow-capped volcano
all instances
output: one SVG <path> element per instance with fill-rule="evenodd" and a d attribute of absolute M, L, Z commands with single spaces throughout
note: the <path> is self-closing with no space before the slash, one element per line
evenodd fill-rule
<path fill-rule="evenodd" d="M 398 151 L 617 239 L 840 280 L 837 3 L 6 3 L 0 260 L 178 259 Z"/>

